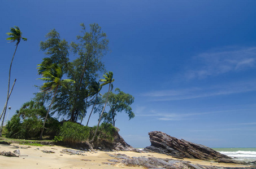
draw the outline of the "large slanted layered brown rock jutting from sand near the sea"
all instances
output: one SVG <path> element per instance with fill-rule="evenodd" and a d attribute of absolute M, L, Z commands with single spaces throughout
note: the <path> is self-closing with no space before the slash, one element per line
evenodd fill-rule
<path fill-rule="evenodd" d="M 207 146 L 176 139 L 160 131 L 149 132 L 149 137 L 151 146 L 147 146 L 144 149 L 147 152 L 202 160 L 231 159 L 231 157 L 220 154 Z"/>

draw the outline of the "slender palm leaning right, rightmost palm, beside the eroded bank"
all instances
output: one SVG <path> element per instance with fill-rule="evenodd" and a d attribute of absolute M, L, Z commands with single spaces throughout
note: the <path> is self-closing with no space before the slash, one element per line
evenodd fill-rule
<path fill-rule="evenodd" d="M 113 72 L 105 73 L 105 74 L 103 74 L 103 77 L 104 77 L 105 79 L 99 79 L 99 81 L 103 82 L 100 86 L 105 86 L 106 84 L 109 84 L 109 91 L 107 92 L 107 99 L 108 99 L 108 97 L 109 97 L 109 92 L 113 89 L 113 84 L 112 84 L 112 82 L 114 82 L 115 79 L 113 79 Z M 103 107 L 103 109 L 102 109 L 101 117 L 102 117 L 102 114 L 103 114 L 103 112 L 104 112 L 104 110 L 105 110 L 105 107 L 106 107 L 106 104 L 107 104 L 107 99 L 106 99 L 105 105 L 104 105 L 104 107 Z M 99 123 L 101 122 L 101 117 L 99 117 L 98 126 L 97 126 L 97 128 L 96 128 L 96 131 L 95 131 L 95 133 L 94 133 L 94 136 L 93 136 L 93 139 L 91 140 L 91 142 L 95 139 L 95 136 L 96 136 L 97 131 L 98 131 L 98 128 L 99 128 Z"/>

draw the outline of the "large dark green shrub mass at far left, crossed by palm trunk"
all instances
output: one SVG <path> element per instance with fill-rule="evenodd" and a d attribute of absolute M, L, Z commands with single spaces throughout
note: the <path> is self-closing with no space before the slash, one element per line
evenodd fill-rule
<path fill-rule="evenodd" d="M 31 139 L 40 135 L 43 127 L 43 119 L 46 114 L 45 106 L 35 101 L 28 101 L 8 121 L 6 125 L 6 137 L 14 139 Z M 57 119 L 49 118 L 45 125 L 46 135 L 54 137 L 59 131 Z"/>

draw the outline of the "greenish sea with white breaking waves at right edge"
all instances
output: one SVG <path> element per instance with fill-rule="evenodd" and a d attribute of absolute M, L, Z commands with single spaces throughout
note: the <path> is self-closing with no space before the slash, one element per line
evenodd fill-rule
<path fill-rule="evenodd" d="M 214 150 L 236 160 L 245 162 L 256 161 L 256 148 L 214 148 Z"/>

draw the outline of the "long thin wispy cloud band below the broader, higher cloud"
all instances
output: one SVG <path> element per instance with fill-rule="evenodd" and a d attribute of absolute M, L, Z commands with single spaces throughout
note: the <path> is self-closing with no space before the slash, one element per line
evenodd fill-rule
<path fill-rule="evenodd" d="M 150 98 L 150 101 L 171 101 L 197 99 L 200 97 L 210 97 L 218 95 L 230 95 L 243 92 L 256 91 L 256 81 L 236 82 L 207 87 L 178 88 L 176 90 L 150 91 L 142 96 Z"/>

